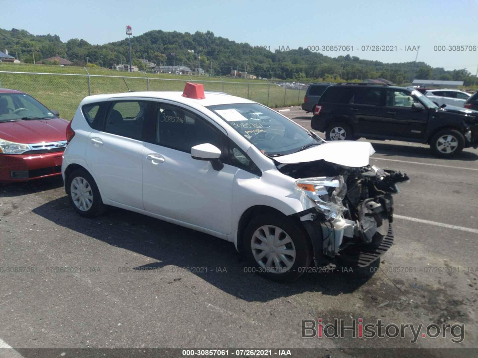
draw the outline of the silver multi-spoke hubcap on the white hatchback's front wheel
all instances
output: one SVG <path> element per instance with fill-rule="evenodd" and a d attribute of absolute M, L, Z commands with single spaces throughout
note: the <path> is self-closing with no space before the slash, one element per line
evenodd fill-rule
<path fill-rule="evenodd" d="M 266 272 L 283 274 L 295 262 L 295 246 L 287 232 L 274 225 L 264 225 L 252 235 L 250 244 L 256 262 Z"/>

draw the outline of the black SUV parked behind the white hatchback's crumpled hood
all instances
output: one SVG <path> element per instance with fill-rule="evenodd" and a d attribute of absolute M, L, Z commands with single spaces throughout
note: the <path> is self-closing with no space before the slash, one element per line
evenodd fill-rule
<path fill-rule="evenodd" d="M 429 144 L 452 157 L 478 147 L 478 111 L 438 107 L 416 90 L 378 84 L 335 84 L 315 106 L 311 126 L 327 140 L 393 139 Z"/>

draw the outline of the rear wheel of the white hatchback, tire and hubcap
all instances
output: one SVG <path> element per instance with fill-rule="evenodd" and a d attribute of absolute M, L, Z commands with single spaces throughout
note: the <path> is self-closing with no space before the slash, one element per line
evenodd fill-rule
<path fill-rule="evenodd" d="M 74 170 L 68 176 L 66 185 L 68 199 L 79 215 L 92 218 L 106 211 L 98 186 L 87 170 L 82 168 Z"/>

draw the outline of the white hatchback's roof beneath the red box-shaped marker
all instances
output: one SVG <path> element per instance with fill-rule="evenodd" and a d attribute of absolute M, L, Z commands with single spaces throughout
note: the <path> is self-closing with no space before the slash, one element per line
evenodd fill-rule
<path fill-rule="evenodd" d="M 223 93 L 215 93 L 204 91 L 205 97 L 203 99 L 187 98 L 183 96 L 183 92 L 180 91 L 147 91 L 147 92 L 126 92 L 126 93 L 115 93 L 115 94 L 106 94 L 106 95 L 91 95 L 86 97 L 83 100 L 83 103 L 93 103 L 93 102 L 102 102 L 114 98 L 128 98 L 128 97 L 144 97 L 152 99 L 165 99 L 174 102 L 180 102 L 185 105 L 190 105 L 196 107 L 200 106 L 209 106 L 209 105 L 226 105 L 233 103 L 255 103 L 249 99 L 242 97 L 236 97 L 232 95 L 227 95 Z"/>

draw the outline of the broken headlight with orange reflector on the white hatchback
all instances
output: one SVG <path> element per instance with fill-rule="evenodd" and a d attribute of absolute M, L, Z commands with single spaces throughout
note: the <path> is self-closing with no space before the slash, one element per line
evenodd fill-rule
<path fill-rule="evenodd" d="M 295 186 L 315 202 L 327 220 L 335 219 L 347 210 L 342 204 L 347 193 L 347 184 L 341 175 L 298 179 Z"/>

